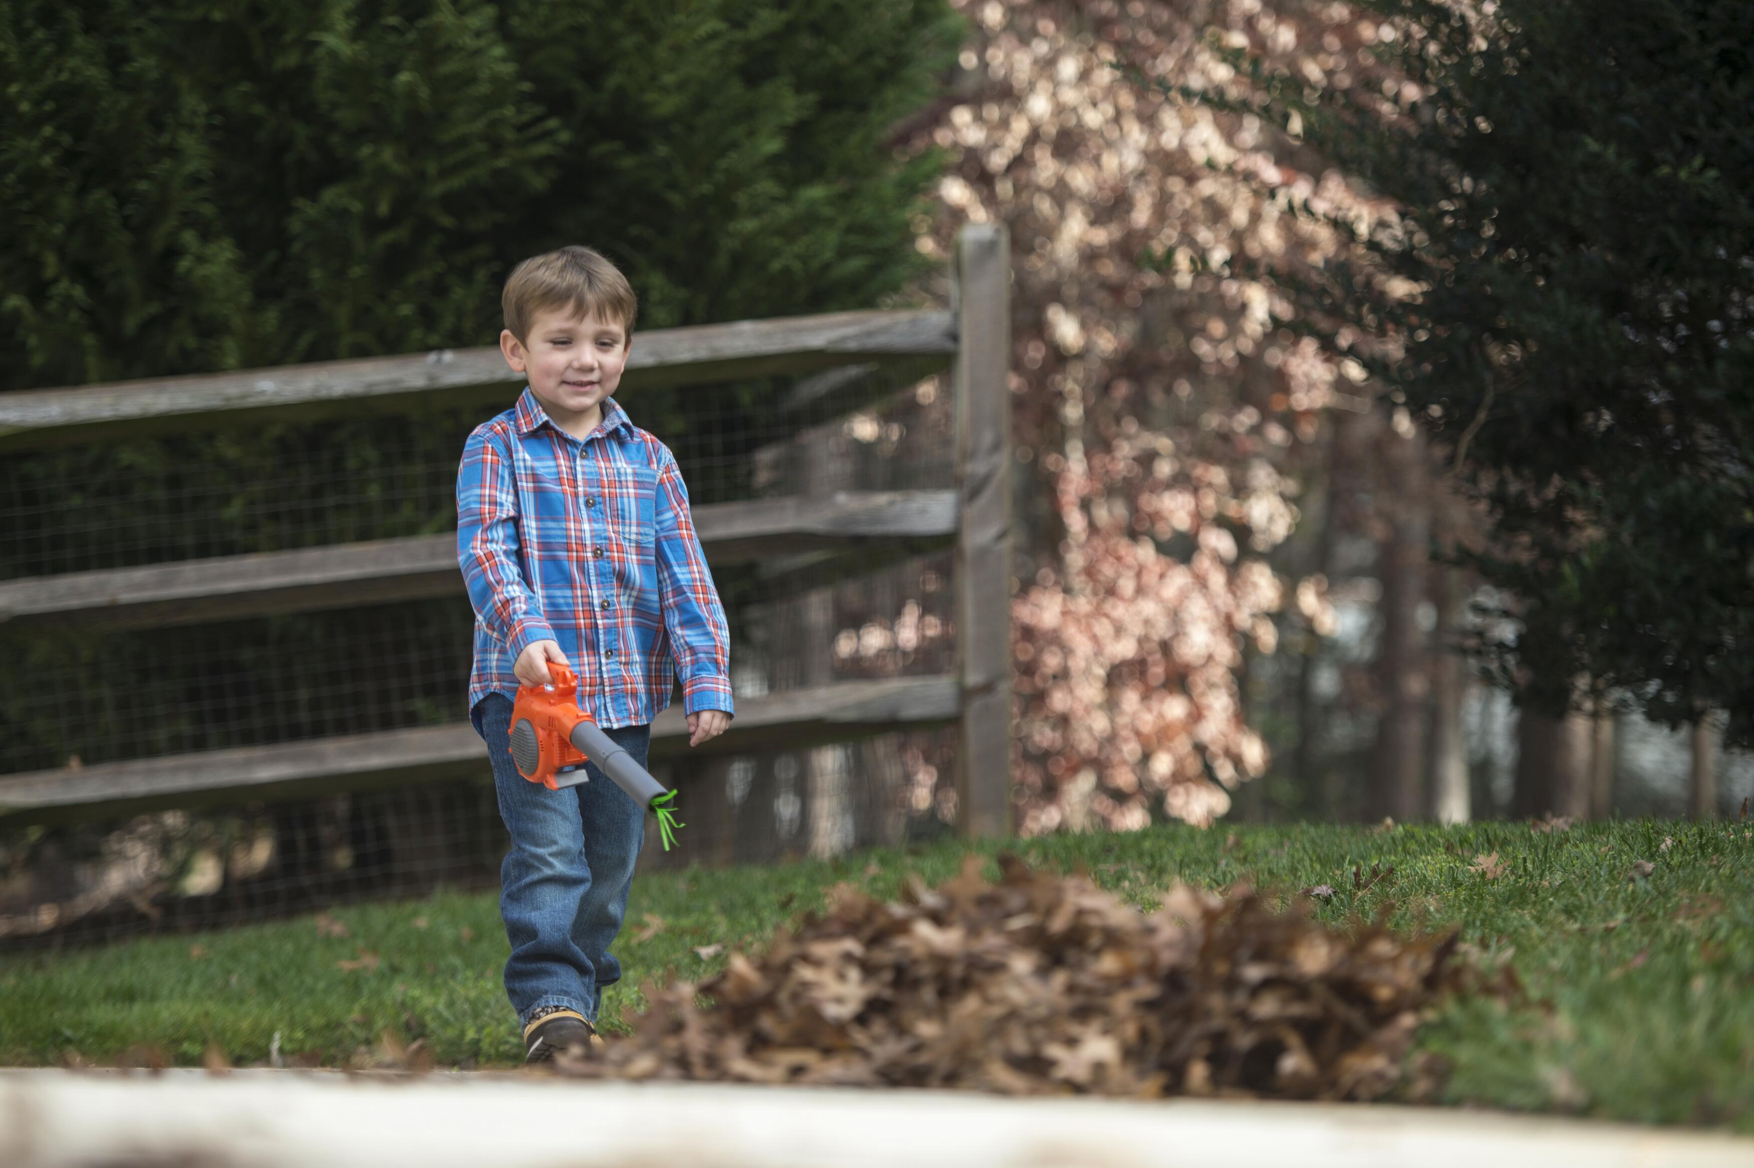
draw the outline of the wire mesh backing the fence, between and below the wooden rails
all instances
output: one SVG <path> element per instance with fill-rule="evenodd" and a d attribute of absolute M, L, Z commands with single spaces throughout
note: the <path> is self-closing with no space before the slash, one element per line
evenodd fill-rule
<path fill-rule="evenodd" d="M 677 454 L 696 514 L 954 482 L 944 360 L 624 396 Z M 440 535 L 472 410 L 228 424 L 25 451 L 0 461 L 0 582 Z M 714 551 L 709 545 L 709 561 Z M 714 565 L 740 702 L 956 668 L 944 537 Z M 274 747 L 467 719 L 472 612 L 454 593 L 175 626 L 0 621 L 0 787 L 9 775 Z M 672 754 L 677 851 L 647 865 L 759 863 L 949 830 L 954 733 Z M 0 796 L 4 801 L 4 796 Z M 437 886 L 491 887 L 503 830 L 470 779 L 146 814 L 0 817 L 0 947 L 212 928 Z"/>

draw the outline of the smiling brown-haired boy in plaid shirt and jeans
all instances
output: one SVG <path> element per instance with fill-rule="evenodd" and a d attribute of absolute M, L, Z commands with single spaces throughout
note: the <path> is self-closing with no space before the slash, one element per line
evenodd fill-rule
<path fill-rule="evenodd" d="M 512 837 L 500 868 L 505 993 L 524 1059 L 545 1063 L 596 1042 L 645 823 L 595 765 L 563 791 L 517 773 L 517 686 L 568 665 L 579 707 L 644 765 L 675 677 L 689 745 L 730 724 L 730 638 L 675 458 L 610 398 L 637 310 L 626 277 L 589 247 L 561 247 L 519 263 L 502 307 L 500 351 L 530 384 L 463 447 L 456 549 L 475 607 L 470 721 Z"/>

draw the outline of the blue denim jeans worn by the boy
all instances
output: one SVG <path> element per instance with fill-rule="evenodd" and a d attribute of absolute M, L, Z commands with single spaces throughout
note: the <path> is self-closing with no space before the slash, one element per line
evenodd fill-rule
<path fill-rule="evenodd" d="M 488 742 L 500 819 L 512 835 L 500 865 L 500 917 L 512 944 L 505 994 L 519 1024 L 549 1005 L 595 1022 L 603 986 L 621 980 L 609 945 L 628 912 L 645 812 L 595 763 L 586 763 L 589 782 L 560 791 L 519 775 L 510 752 L 512 700 L 505 694 L 477 702 L 470 721 Z M 603 733 L 645 765 L 649 724 Z"/>

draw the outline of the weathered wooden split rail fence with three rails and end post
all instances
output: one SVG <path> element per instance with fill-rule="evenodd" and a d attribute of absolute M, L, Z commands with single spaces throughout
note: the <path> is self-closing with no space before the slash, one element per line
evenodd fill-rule
<path fill-rule="evenodd" d="M 958 817 L 968 835 L 1010 830 L 1009 693 L 1009 246 L 1002 230 L 958 240 L 954 312 L 837 312 L 640 333 L 621 396 L 775 374 L 882 368 L 942 358 L 954 368 L 956 488 L 844 491 L 703 505 L 707 559 L 726 565 L 881 540 L 954 538 L 954 675 L 845 680 L 738 698 L 717 751 L 838 742 L 959 721 Z M 0 395 L 0 458 L 56 444 L 253 419 L 312 419 L 503 402 L 521 381 L 498 349 L 328 361 L 202 377 Z M 835 379 L 823 382 L 828 393 Z M 0 623 L 103 628 L 461 595 L 454 533 L 0 582 Z M 661 758 L 686 742 L 681 710 L 652 726 Z M 163 807 L 358 791 L 481 773 L 467 723 L 0 775 L 0 819 L 116 815 Z"/>

